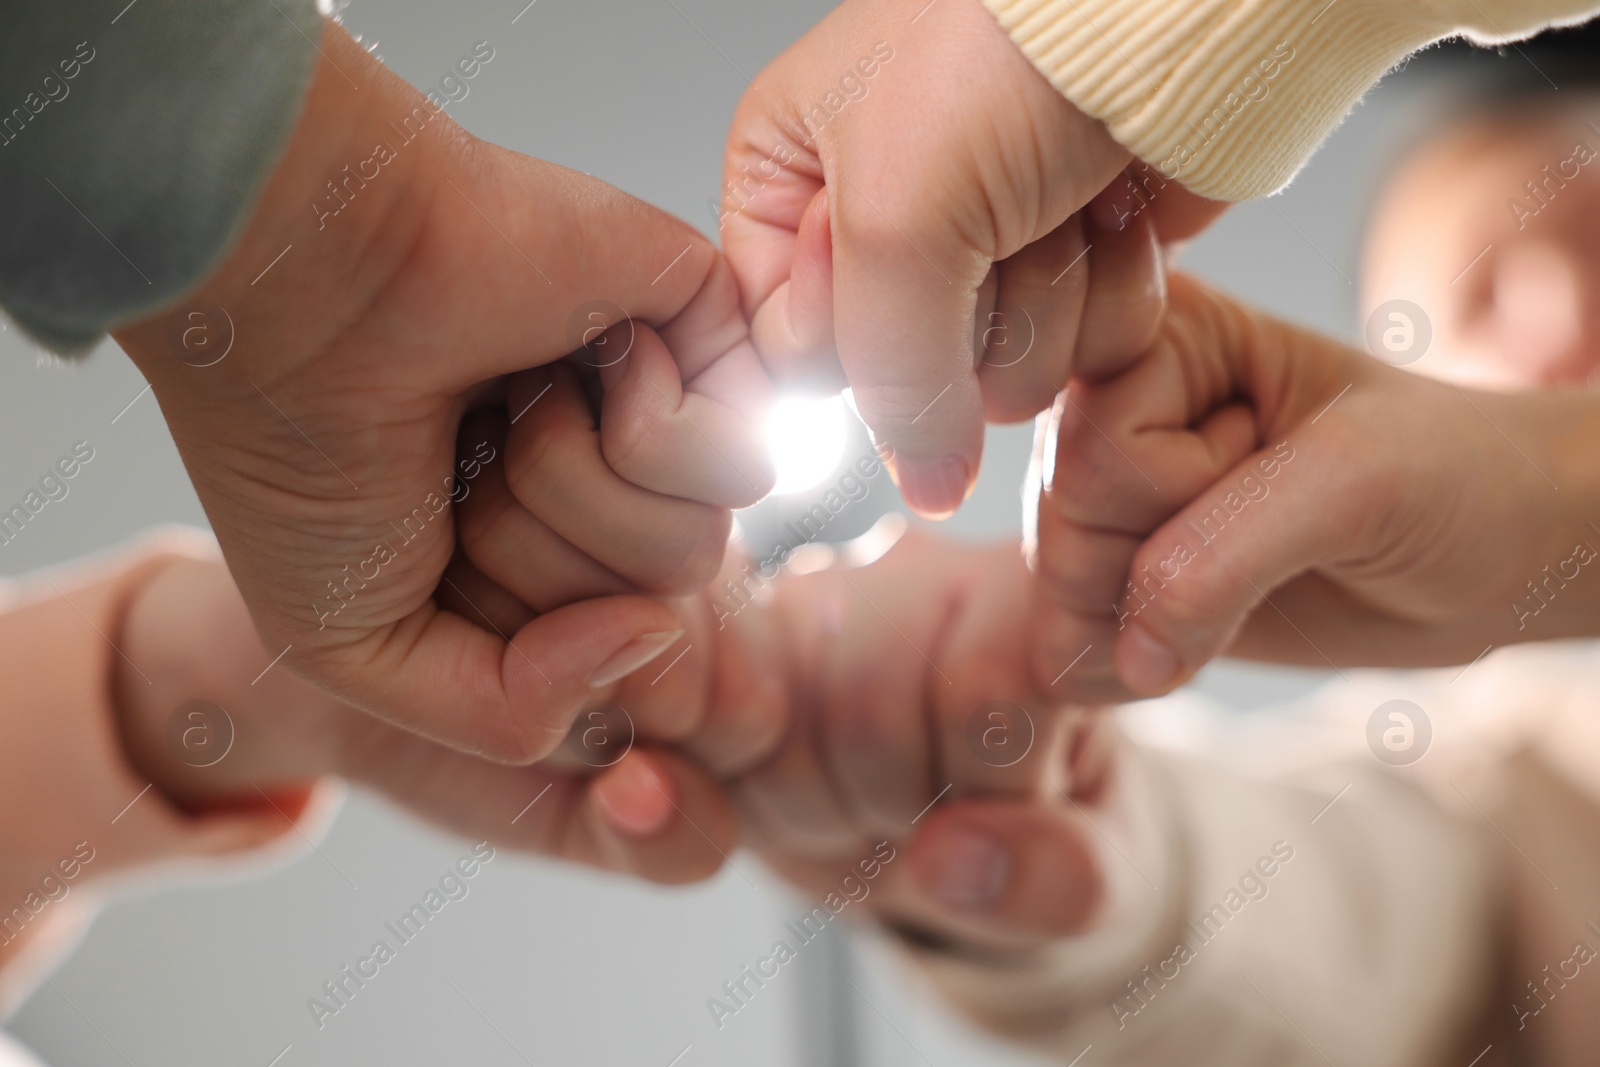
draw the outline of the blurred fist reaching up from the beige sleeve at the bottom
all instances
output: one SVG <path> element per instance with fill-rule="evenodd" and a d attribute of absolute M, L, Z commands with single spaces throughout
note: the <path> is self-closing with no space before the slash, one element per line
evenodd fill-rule
<path fill-rule="evenodd" d="M 730 785 L 746 843 L 816 899 L 861 899 L 923 941 L 1026 949 L 1086 925 L 1101 872 L 1085 809 L 1107 795 L 1114 734 L 1030 685 L 1026 597 L 1014 549 L 925 534 L 782 579 L 790 720 Z"/>

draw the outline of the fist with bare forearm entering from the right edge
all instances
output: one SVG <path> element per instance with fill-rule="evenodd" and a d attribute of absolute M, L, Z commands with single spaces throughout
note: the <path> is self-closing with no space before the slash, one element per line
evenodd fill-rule
<path fill-rule="evenodd" d="M 1600 629 L 1573 581 L 1600 545 L 1600 400 L 1472 392 L 1187 278 L 1171 296 L 1149 354 L 1042 435 L 1042 685 L 1154 696 L 1224 651 L 1437 665 Z"/>

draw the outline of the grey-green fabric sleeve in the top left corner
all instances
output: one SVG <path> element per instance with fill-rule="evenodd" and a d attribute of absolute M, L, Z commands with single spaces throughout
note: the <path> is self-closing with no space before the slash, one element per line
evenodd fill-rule
<path fill-rule="evenodd" d="M 310 85 L 315 0 L 6 0 L 0 307 L 74 354 L 194 288 Z"/>

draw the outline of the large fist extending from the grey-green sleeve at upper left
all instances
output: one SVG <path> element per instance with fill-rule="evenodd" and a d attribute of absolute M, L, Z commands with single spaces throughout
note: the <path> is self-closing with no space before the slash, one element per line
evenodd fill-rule
<path fill-rule="evenodd" d="M 691 227 L 470 138 L 331 22 L 322 53 L 238 246 L 194 298 L 117 339 L 155 389 L 272 654 L 429 737 L 534 760 L 597 685 L 680 629 L 635 587 L 702 584 L 723 509 L 765 493 L 771 475 L 744 459 L 758 451 L 738 414 L 758 406 L 765 378 L 736 286 Z M 598 563 L 616 595 L 504 633 L 470 606 L 442 609 L 435 590 L 461 592 L 442 582 L 453 504 L 496 467 L 493 443 L 456 466 L 462 416 L 509 397 L 514 446 L 546 402 L 531 378 L 506 376 L 594 346 L 624 314 L 637 339 L 605 382 L 614 414 L 600 434 L 568 427 L 562 450 L 518 451 L 523 466 L 496 475 L 502 502 L 546 523 L 542 544 L 573 568 L 586 536 L 611 545 Z M 211 349 L 190 339 L 208 328 L 229 347 L 197 366 Z M 582 512 L 597 498 L 563 491 L 602 458 L 616 472 L 606 509 Z M 619 480 L 702 502 L 674 501 L 672 533 L 640 536 Z"/>

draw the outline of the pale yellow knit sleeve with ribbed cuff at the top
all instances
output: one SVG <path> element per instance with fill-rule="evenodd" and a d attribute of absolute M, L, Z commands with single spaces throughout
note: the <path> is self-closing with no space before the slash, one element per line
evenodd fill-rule
<path fill-rule="evenodd" d="M 986 0 L 1067 99 L 1216 200 L 1282 189 L 1386 70 L 1445 37 L 1579 22 L 1595 0 Z"/>

